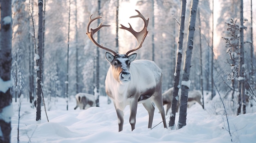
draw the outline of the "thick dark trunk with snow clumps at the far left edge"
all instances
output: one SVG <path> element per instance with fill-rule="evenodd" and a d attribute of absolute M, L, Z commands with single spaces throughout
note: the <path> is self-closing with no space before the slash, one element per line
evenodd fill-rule
<path fill-rule="evenodd" d="M 11 87 L 11 0 L 0 0 L 0 143 L 11 142 L 12 95 Z"/>

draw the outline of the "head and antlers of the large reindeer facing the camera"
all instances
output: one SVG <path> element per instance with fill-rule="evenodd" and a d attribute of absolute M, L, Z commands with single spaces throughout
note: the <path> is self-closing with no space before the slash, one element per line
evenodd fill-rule
<path fill-rule="evenodd" d="M 135 10 L 137 11 L 137 10 Z M 105 57 L 108 60 L 108 62 L 110 63 L 110 65 L 112 66 L 112 74 L 115 80 L 117 80 L 120 84 L 126 84 L 128 81 L 131 80 L 131 75 L 129 72 L 130 69 L 130 64 L 132 61 L 135 60 L 135 58 L 137 57 L 136 53 L 133 53 L 131 55 L 129 55 L 129 53 L 138 50 L 139 48 L 141 48 L 142 43 L 145 40 L 146 35 L 148 34 L 147 31 L 147 26 L 148 26 L 148 20 L 146 20 L 144 18 L 144 16 L 137 11 L 138 15 L 135 16 L 131 16 L 130 18 L 141 18 L 144 21 L 144 28 L 140 31 L 140 32 L 136 32 L 135 30 L 132 29 L 132 26 L 129 24 L 129 28 L 123 26 L 121 24 L 121 29 L 125 29 L 127 31 L 129 31 L 130 33 L 132 33 L 132 35 L 134 35 L 137 39 L 137 46 L 135 48 L 133 48 L 132 50 L 128 51 L 126 54 L 118 54 L 116 51 L 107 48 L 105 46 L 103 46 L 102 44 L 97 43 L 94 38 L 93 38 L 93 34 L 96 33 L 97 31 L 99 31 L 99 29 L 101 29 L 104 26 L 110 26 L 110 25 L 106 25 L 106 24 L 100 24 L 96 29 L 90 29 L 89 31 L 89 27 L 90 24 L 99 18 L 102 18 L 101 16 L 97 16 L 95 18 L 92 18 L 92 15 L 90 16 L 90 20 L 88 22 L 88 26 L 87 26 L 87 35 L 90 38 L 90 40 L 92 40 L 92 42 L 97 45 L 99 48 L 103 48 L 107 51 L 110 51 L 111 53 L 113 53 L 114 55 L 112 55 L 109 52 L 106 52 Z"/>

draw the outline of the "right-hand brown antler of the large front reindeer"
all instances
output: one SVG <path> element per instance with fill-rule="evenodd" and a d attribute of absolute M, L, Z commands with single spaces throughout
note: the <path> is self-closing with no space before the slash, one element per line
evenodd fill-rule
<path fill-rule="evenodd" d="M 137 11 L 138 15 L 131 16 L 130 18 L 141 18 L 144 21 L 144 28 L 141 31 L 136 32 L 134 29 L 132 29 L 132 26 L 130 25 L 130 23 L 128 23 L 129 26 L 130 26 L 129 28 L 127 28 L 126 26 L 121 24 L 120 28 L 121 29 L 125 29 L 125 30 L 129 31 L 130 33 L 132 33 L 132 35 L 134 35 L 136 37 L 137 42 L 138 42 L 137 47 L 135 47 L 134 49 L 128 51 L 126 53 L 126 55 L 128 55 L 129 53 L 131 53 L 133 51 L 138 50 L 139 48 L 141 48 L 141 46 L 142 46 L 142 44 L 143 44 L 143 42 L 144 42 L 144 40 L 146 38 L 146 35 L 148 34 L 147 26 L 148 26 L 149 18 L 148 18 L 148 20 L 146 20 L 146 18 L 144 18 L 144 16 L 138 10 L 135 10 L 135 11 Z"/>

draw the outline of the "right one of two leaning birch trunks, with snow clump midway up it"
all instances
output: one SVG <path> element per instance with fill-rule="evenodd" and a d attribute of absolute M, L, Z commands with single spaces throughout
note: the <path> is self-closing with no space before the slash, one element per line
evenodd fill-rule
<path fill-rule="evenodd" d="M 189 74 L 191 67 L 191 57 L 193 51 L 193 40 L 194 40 L 194 32 L 195 32 L 195 20 L 196 20 L 196 11 L 198 8 L 198 0 L 191 1 L 191 13 L 189 18 L 189 31 L 187 37 L 187 45 L 186 45 L 186 55 L 184 62 L 184 73 L 182 75 L 182 90 L 181 90 L 181 98 L 180 98 L 180 117 L 178 122 L 178 129 L 184 127 L 186 125 L 186 110 L 188 105 L 188 92 L 190 86 Z"/>

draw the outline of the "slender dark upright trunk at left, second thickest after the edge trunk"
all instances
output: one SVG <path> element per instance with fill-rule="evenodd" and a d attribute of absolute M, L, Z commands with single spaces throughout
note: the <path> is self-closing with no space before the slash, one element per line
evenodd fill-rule
<path fill-rule="evenodd" d="M 43 61 L 43 1 L 38 0 L 38 47 L 39 58 L 36 59 L 37 66 L 37 89 L 36 89 L 36 121 L 41 120 L 41 94 L 42 94 L 42 61 Z"/>

